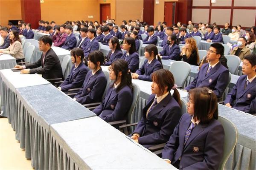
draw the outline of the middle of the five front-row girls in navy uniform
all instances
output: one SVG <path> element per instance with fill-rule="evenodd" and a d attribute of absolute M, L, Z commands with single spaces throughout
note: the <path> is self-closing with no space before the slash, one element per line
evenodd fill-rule
<path fill-rule="evenodd" d="M 93 112 L 106 122 L 125 120 L 133 100 L 131 73 L 127 62 L 123 59 L 114 61 L 109 68 L 109 77 L 114 82 L 102 104 Z"/>

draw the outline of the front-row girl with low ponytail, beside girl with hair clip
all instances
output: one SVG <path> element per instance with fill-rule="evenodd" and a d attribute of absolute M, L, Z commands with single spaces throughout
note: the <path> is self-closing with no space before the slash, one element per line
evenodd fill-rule
<path fill-rule="evenodd" d="M 152 94 L 143 108 L 143 117 L 131 136 L 146 148 L 167 142 L 181 117 L 180 94 L 174 87 L 172 73 L 160 69 L 152 74 L 152 79 Z M 173 95 L 170 93 L 172 88 Z"/>

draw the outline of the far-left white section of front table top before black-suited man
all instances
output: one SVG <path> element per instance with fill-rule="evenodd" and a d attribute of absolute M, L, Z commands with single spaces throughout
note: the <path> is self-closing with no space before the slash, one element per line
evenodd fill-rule
<path fill-rule="evenodd" d="M 11 69 L 0 70 L 0 77 L 12 91 L 16 91 L 16 88 L 50 84 L 38 74 L 20 74 Z"/>

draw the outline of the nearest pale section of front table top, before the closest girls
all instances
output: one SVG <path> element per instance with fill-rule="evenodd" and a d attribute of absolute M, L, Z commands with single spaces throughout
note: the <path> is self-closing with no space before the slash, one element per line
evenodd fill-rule
<path fill-rule="evenodd" d="M 54 124 L 50 130 L 81 169 L 176 169 L 97 116 Z"/>

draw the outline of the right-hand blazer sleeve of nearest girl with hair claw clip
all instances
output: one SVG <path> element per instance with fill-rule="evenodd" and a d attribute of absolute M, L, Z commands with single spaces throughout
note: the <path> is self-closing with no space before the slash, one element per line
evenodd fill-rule
<path fill-rule="evenodd" d="M 206 141 L 204 144 L 204 160 L 192 164 L 188 167 L 183 168 L 183 170 L 192 169 L 209 169 L 217 170 L 219 162 L 223 156 L 224 148 L 224 129 L 222 125 L 216 125 L 209 130 Z"/>

